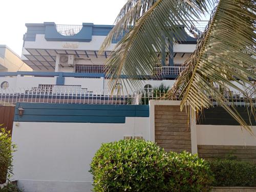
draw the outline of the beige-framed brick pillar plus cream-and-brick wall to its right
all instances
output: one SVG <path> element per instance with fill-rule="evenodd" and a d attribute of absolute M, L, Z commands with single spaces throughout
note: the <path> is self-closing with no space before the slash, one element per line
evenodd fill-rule
<path fill-rule="evenodd" d="M 176 112 L 173 105 L 177 105 Z M 239 159 L 256 162 L 255 136 L 238 125 L 196 124 L 195 116 L 191 118 L 191 113 L 190 133 L 187 133 L 183 128 L 188 126 L 185 122 L 188 114 L 179 112 L 178 105 L 179 101 L 150 101 L 151 140 L 165 147 L 166 151 L 170 148 L 177 151 L 172 147 L 177 144 L 184 149 L 187 149 L 185 146 L 190 146 L 192 153 L 198 153 L 206 159 L 225 158 L 233 154 Z M 175 115 L 176 113 L 181 114 Z M 252 126 L 252 132 L 256 134 L 256 126 Z M 176 141 L 180 143 L 175 143 Z"/>

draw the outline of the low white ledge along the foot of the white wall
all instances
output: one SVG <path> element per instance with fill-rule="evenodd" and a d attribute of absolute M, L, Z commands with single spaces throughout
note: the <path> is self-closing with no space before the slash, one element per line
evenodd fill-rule
<path fill-rule="evenodd" d="M 24 192 L 84 192 L 92 189 L 92 183 L 86 181 L 18 180 L 17 185 Z"/>

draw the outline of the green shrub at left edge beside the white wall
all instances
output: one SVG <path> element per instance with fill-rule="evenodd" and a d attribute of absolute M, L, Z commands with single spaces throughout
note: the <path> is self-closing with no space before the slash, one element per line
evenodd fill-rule
<path fill-rule="evenodd" d="M 12 152 L 15 145 L 12 144 L 10 132 L 0 129 L 0 184 L 6 182 L 12 174 Z"/>

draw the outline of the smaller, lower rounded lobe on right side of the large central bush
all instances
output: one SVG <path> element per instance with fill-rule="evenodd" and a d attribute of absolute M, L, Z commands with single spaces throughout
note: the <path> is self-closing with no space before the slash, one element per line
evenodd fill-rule
<path fill-rule="evenodd" d="M 168 153 L 167 191 L 209 191 L 214 177 L 207 161 L 183 151 Z"/>

